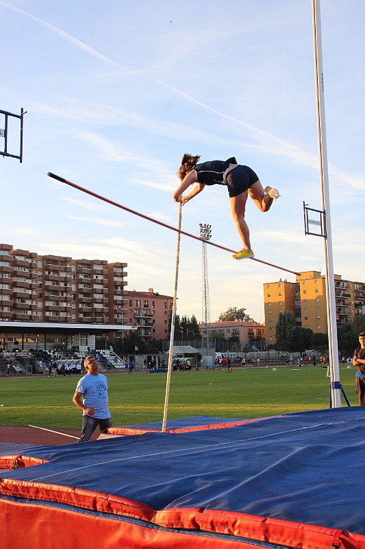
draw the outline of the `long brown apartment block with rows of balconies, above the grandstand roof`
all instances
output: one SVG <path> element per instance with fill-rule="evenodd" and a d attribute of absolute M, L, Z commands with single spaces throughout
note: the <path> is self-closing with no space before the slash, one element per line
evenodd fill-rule
<path fill-rule="evenodd" d="M 119 323 L 126 267 L 0 244 L 0 320 Z"/>

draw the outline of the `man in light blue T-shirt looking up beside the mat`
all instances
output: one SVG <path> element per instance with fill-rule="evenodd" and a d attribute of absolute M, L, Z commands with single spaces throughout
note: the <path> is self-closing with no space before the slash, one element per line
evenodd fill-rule
<path fill-rule="evenodd" d="M 112 427 L 108 410 L 108 380 L 99 373 L 99 364 L 95 357 L 87 356 L 84 366 L 87 373 L 79 379 L 73 395 L 73 404 L 83 410 L 79 442 L 90 440 L 98 426 L 101 431 Z"/>

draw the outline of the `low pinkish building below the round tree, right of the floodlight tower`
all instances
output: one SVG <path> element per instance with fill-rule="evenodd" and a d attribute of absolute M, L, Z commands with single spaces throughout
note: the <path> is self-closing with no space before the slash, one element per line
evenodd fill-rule
<path fill-rule="evenodd" d="M 248 320 L 225 320 L 207 323 L 207 328 L 210 336 L 221 335 L 225 339 L 236 336 L 239 338 L 242 346 L 250 346 L 253 341 L 265 339 L 265 326 Z M 199 329 L 201 333 L 205 330 L 205 324 L 200 323 Z"/>

